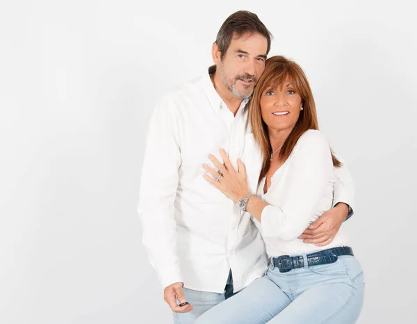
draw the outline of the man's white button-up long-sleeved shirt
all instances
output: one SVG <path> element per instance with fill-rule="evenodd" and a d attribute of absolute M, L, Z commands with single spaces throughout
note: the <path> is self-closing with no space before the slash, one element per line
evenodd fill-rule
<path fill-rule="evenodd" d="M 183 282 L 188 289 L 224 293 L 229 270 L 234 291 L 261 277 L 267 267 L 265 245 L 251 216 L 202 177 L 208 154 L 220 161 L 224 148 L 236 167 L 245 162 L 256 191 L 261 161 L 245 149 L 253 136 L 243 102 L 236 116 L 204 77 L 163 97 L 149 122 L 138 212 L 143 243 L 163 287 Z M 251 147 L 251 145 L 249 145 Z M 249 154 L 249 155 L 248 155 Z M 335 190 L 343 201 L 351 188 Z M 347 198 L 347 200 L 345 200 Z"/>

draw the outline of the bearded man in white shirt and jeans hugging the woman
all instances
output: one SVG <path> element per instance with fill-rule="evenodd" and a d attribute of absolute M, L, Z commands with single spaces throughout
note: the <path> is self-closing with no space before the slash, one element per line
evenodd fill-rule
<path fill-rule="evenodd" d="M 270 44 L 270 32 L 256 15 L 234 13 L 218 32 L 208 74 L 165 95 L 152 115 L 138 211 L 175 323 L 193 323 L 267 268 L 250 216 L 206 183 L 202 164 L 208 154 L 220 159 L 220 147 L 231 161 L 242 155 L 250 133 L 246 104 Z M 352 205 L 350 175 L 345 168 L 335 172 L 336 206 L 300 236 L 307 243 L 332 241 Z"/>

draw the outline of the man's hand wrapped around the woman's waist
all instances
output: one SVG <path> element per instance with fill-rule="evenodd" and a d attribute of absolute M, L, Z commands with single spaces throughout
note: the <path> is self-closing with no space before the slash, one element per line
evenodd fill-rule
<path fill-rule="evenodd" d="M 343 202 L 336 204 L 334 208 L 326 211 L 298 238 L 304 240 L 304 243 L 315 244 L 316 246 L 325 246 L 333 241 L 339 228 L 347 217 L 349 207 Z"/>

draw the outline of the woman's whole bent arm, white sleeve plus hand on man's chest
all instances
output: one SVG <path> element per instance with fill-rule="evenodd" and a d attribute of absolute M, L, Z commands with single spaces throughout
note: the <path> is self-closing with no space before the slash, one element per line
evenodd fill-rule
<path fill-rule="evenodd" d="M 319 131 L 311 131 L 295 147 L 292 156 L 291 172 L 288 175 L 286 200 L 282 206 L 272 206 L 259 197 L 250 197 L 247 211 L 262 224 L 263 236 L 278 237 L 291 241 L 309 226 L 327 182 L 334 178 L 332 155 L 327 138 Z M 249 193 L 245 167 L 238 161 L 239 170 L 231 166 L 225 152 L 220 152 L 224 165 L 211 157 L 223 177 L 215 181 L 208 175 L 204 177 L 235 202 Z M 218 173 L 204 165 L 204 168 L 217 177 Z"/>

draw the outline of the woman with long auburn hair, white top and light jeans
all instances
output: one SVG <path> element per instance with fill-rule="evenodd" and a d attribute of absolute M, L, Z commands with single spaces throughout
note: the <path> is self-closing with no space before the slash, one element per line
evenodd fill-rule
<path fill-rule="evenodd" d="M 333 166 L 341 162 L 318 131 L 311 88 L 296 63 L 282 56 L 267 60 L 250 123 L 263 159 L 256 195 L 243 162 L 235 170 L 222 149 L 224 164 L 210 156 L 218 171 L 204 165 L 212 176 L 204 177 L 252 215 L 270 266 L 195 323 L 354 323 L 363 304 L 363 271 L 343 231 L 322 248 L 297 238 L 332 206 Z"/>

